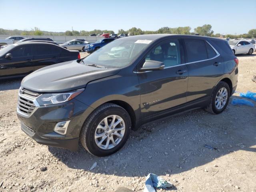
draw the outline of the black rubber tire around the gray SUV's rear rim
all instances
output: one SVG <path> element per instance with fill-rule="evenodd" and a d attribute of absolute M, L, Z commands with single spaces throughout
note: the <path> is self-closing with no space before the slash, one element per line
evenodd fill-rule
<path fill-rule="evenodd" d="M 226 90 L 228 91 L 228 95 L 227 95 L 226 104 L 221 109 L 218 109 L 215 105 L 215 99 L 218 94 L 218 91 L 221 88 L 226 88 Z M 230 98 L 230 87 L 228 86 L 228 84 L 226 82 L 221 81 L 213 89 L 208 106 L 205 108 L 205 110 L 212 114 L 220 114 L 222 111 L 224 111 L 226 109 L 228 102 L 229 102 L 229 98 Z"/>

